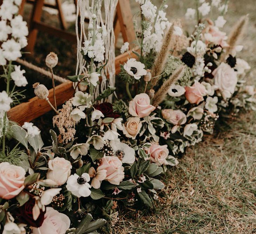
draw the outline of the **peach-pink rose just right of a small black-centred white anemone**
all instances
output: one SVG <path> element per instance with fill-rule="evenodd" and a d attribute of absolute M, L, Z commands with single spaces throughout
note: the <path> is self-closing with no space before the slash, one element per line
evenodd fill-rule
<path fill-rule="evenodd" d="M 192 86 L 186 86 L 185 89 L 185 96 L 190 103 L 199 104 L 203 101 L 203 96 L 207 94 L 206 87 L 198 81 L 195 81 Z"/>

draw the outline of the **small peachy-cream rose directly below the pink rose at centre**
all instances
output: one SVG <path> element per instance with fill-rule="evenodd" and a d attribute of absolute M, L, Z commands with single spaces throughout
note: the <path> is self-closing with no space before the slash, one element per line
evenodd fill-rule
<path fill-rule="evenodd" d="M 142 123 L 139 117 L 130 117 L 127 122 L 123 124 L 123 133 L 129 138 L 135 139 L 140 132 Z"/>

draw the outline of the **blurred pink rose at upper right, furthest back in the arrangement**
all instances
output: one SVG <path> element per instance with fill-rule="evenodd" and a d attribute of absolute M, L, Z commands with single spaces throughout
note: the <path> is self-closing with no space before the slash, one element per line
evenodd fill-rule
<path fill-rule="evenodd" d="M 228 39 L 226 33 L 221 32 L 218 27 L 209 26 L 207 28 L 207 33 L 204 34 L 204 38 L 207 43 L 213 43 L 215 45 L 220 45 L 222 48 L 228 47 L 226 40 Z"/>

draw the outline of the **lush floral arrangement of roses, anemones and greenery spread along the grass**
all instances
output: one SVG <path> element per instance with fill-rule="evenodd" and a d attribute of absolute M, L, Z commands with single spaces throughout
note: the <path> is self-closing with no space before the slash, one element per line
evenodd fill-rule
<path fill-rule="evenodd" d="M 27 84 L 25 71 L 12 65 L 21 57 L 28 34 L 17 15 L 20 2 L 4 0 L 0 7 L 1 77 L 7 84 L 0 93 L 1 233 L 96 233 L 106 221 L 115 226 L 119 206 L 152 208 L 164 188 L 157 176 L 176 166 L 186 147 L 213 133 L 216 123 L 255 109 L 254 87 L 244 81 L 250 67 L 237 57 L 248 16 L 226 36 L 220 28 L 228 1 L 210 5 L 196 0 L 196 9 L 188 8 L 185 15 L 197 18 L 187 37 L 179 21 L 166 18 L 166 0 L 159 8 L 150 0 L 136 0 L 141 23 L 135 25 L 134 44 L 121 48 L 128 59 L 121 64 L 116 88 L 109 86 L 95 96 L 106 65 L 101 35 L 107 33 L 96 26 L 95 12 L 81 50 L 88 72 L 68 77 L 74 97 L 57 109 L 47 88 L 33 85 L 35 95 L 56 112 L 52 145 L 43 147 L 33 123 L 19 126 L 7 118 L 22 97 L 15 85 Z M 217 19 L 204 19 L 214 8 L 220 13 Z M 52 74 L 57 64 L 58 56 L 51 52 L 46 65 Z M 124 86 L 127 96 L 119 99 Z M 105 102 L 111 95 L 113 102 Z M 90 213 L 99 219 L 92 221 Z"/>

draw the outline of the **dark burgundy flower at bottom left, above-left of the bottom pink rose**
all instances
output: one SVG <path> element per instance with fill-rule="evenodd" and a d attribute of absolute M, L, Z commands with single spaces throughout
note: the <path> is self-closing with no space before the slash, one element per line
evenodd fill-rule
<path fill-rule="evenodd" d="M 14 214 L 19 218 L 21 223 L 25 223 L 32 227 L 41 227 L 43 220 L 45 219 L 45 211 L 40 210 L 40 214 L 36 220 L 33 219 L 33 207 L 35 205 L 35 199 L 30 198 L 23 206 L 16 209 Z"/>

